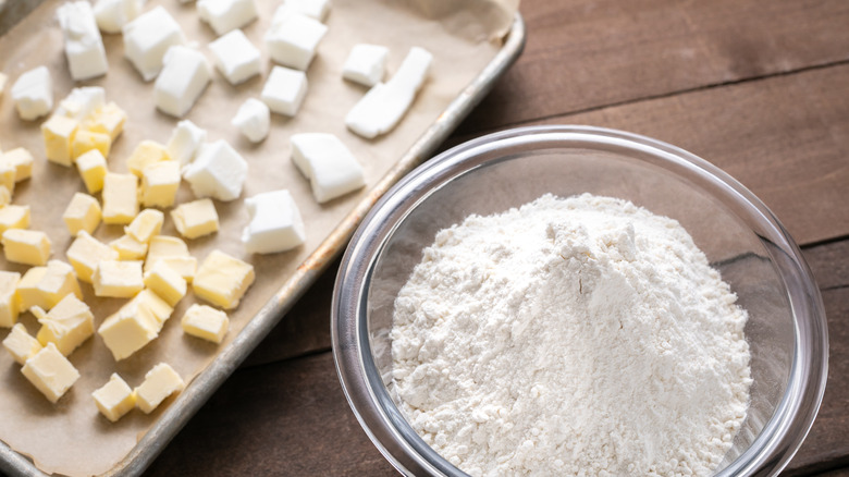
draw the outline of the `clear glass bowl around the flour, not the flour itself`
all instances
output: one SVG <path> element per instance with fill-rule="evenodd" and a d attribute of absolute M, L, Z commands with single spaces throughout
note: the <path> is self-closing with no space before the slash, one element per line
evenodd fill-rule
<path fill-rule="evenodd" d="M 798 246 L 751 192 L 709 162 L 587 126 L 522 127 L 457 146 L 404 178 L 364 219 L 336 279 L 331 337 L 345 395 L 374 445 L 405 475 L 465 475 L 396 406 L 393 303 L 438 231 L 545 193 L 627 199 L 692 235 L 749 311 L 749 412 L 716 474 L 778 474 L 813 424 L 827 375 L 822 298 Z"/>

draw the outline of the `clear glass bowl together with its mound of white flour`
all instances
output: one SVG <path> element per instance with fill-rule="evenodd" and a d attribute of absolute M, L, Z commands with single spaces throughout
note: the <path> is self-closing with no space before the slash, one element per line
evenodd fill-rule
<path fill-rule="evenodd" d="M 418 168 L 353 237 L 332 311 L 348 402 L 405 475 L 776 475 L 827 372 L 822 301 L 770 210 L 595 127 Z"/>

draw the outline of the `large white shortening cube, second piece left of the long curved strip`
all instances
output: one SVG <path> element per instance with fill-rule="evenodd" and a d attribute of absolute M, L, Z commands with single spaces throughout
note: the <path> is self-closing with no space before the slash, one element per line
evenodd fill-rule
<path fill-rule="evenodd" d="M 295 13 L 271 25 L 266 33 L 266 47 L 278 63 L 306 71 L 327 33 L 328 27 L 318 20 Z"/>

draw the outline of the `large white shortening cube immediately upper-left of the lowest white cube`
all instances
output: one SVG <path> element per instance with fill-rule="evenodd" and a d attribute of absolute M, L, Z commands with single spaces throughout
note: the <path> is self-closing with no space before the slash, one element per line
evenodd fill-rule
<path fill-rule="evenodd" d="M 196 197 L 234 200 L 242 194 L 247 162 L 223 139 L 205 144 L 183 171 Z"/>

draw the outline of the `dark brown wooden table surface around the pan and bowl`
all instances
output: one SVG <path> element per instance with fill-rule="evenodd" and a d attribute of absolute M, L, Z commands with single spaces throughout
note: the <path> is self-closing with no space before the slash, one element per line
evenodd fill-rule
<path fill-rule="evenodd" d="M 530 124 L 656 137 L 723 168 L 803 248 L 828 316 L 820 415 L 786 475 L 849 476 L 849 2 L 524 0 L 519 61 L 445 147 Z M 330 350 L 336 265 L 148 475 L 395 475 Z"/>

